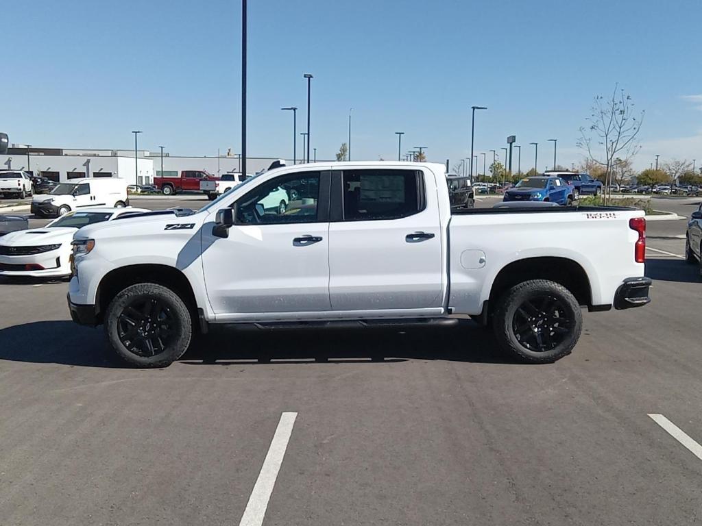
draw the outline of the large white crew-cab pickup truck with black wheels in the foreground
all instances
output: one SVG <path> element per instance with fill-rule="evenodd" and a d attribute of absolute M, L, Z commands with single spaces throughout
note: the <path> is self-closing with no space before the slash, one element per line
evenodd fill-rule
<path fill-rule="evenodd" d="M 294 195 L 284 210 L 263 205 Z M 246 180 L 192 215 L 74 237 L 72 318 L 140 367 L 212 324 L 413 323 L 470 315 L 523 360 L 552 362 L 581 309 L 647 304 L 645 220 L 628 208 L 451 212 L 442 164 L 317 163 Z M 463 316 L 465 317 L 465 316 Z M 466 342 L 469 346 L 470 342 Z"/>

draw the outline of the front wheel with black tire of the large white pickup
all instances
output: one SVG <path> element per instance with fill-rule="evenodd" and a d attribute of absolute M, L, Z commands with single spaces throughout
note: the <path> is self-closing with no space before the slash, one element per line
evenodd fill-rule
<path fill-rule="evenodd" d="M 105 312 L 105 333 L 120 358 L 137 367 L 166 367 L 187 350 L 190 312 L 173 290 L 138 283 L 117 294 Z"/>

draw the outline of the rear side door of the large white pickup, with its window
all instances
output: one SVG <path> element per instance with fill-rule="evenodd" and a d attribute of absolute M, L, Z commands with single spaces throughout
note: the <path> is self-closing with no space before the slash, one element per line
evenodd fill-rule
<path fill-rule="evenodd" d="M 409 172 L 409 175 L 406 173 Z M 347 170 L 344 221 L 329 227 L 329 295 L 335 311 L 430 309 L 442 306 L 442 233 L 437 196 L 425 195 L 415 170 Z M 418 197 L 409 188 L 420 181 Z M 404 185 L 404 187 L 403 187 Z M 369 219 L 402 212 L 406 217 Z M 332 198 L 332 203 L 334 198 Z M 400 208 L 397 208 L 399 205 Z M 410 206 L 420 208 L 411 213 Z M 354 212 L 360 210 L 360 214 Z M 395 214 L 397 215 L 397 214 Z M 404 214 L 400 214 L 404 215 Z"/>

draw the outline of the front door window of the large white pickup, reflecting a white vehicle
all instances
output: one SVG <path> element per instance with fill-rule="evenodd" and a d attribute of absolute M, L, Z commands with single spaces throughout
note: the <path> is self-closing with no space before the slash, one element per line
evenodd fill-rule
<path fill-rule="evenodd" d="M 283 175 L 261 184 L 237 201 L 237 224 L 316 222 L 319 175 Z"/>

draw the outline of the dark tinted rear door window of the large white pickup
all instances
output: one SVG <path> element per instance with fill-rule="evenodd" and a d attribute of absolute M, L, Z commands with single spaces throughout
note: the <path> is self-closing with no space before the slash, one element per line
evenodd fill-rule
<path fill-rule="evenodd" d="M 391 220 L 420 211 L 415 170 L 344 170 L 344 220 Z"/>

